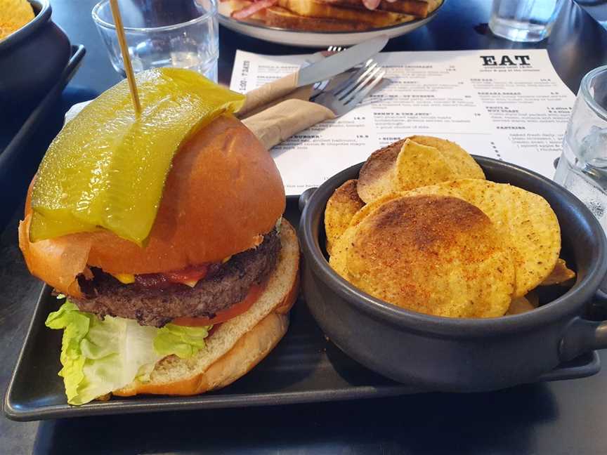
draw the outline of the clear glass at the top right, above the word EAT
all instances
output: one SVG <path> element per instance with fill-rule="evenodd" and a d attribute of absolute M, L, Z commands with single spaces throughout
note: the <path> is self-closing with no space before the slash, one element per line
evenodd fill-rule
<path fill-rule="evenodd" d="M 510 41 L 542 41 L 562 4 L 563 0 L 493 0 L 489 28 Z"/>

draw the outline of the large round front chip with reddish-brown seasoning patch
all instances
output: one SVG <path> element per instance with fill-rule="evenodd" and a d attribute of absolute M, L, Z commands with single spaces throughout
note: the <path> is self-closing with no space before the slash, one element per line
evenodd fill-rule
<path fill-rule="evenodd" d="M 348 279 L 372 296 L 446 317 L 497 317 L 509 308 L 509 249 L 490 218 L 462 199 L 398 197 L 349 230 Z"/>

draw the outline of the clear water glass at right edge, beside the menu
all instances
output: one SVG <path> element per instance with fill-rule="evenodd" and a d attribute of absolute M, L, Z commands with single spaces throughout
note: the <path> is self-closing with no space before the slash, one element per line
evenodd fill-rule
<path fill-rule="evenodd" d="M 582 79 L 554 180 L 582 200 L 607 230 L 607 66 Z"/>

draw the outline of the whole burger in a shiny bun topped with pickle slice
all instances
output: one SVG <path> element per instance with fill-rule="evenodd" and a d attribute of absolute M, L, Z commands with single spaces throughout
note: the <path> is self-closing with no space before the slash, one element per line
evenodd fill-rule
<path fill-rule="evenodd" d="M 63 329 L 70 404 L 228 385 L 280 341 L 296 298 L 284 187 L 231 114 L 242 95 L 174 68 L 137 81 L 141 117 L 123 81 L 63 128 L 19 226 L 30 272 L 65 297 L 46 325 Z"/>

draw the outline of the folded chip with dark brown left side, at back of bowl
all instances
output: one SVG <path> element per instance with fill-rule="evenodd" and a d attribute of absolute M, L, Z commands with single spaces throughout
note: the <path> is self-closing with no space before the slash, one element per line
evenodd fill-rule
<path fill-rule="evenodd" d="M 360 169 L 357 189 L 360 199 L 369 204 L 392 192 L 458 178 L 484 179 L 485 174 L 456 143 L 411 136 L 373 152 Z"/>

